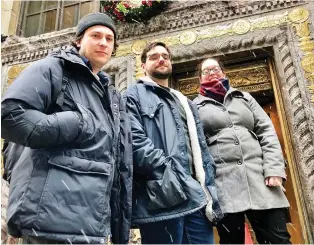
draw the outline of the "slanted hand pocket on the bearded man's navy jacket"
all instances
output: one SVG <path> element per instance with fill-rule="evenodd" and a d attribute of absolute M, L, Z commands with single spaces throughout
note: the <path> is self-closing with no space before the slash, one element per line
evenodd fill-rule
<path fill-rule="evenodd" d="M 188 200 L 170 164 L 166 165 L 162 180 L 147 181 L 148 210 L 171 208 Z"/>

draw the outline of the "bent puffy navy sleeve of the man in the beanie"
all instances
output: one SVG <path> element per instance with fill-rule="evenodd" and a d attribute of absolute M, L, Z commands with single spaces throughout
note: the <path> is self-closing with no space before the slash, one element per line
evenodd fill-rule
<path fill-rule="evenodd" d="M 2 138 L 31 148 L 72 142 L 80 132 L 78 112 L 47 115 L 54 93 L 61 90 L 62 65 L 45 58 L 26 68 L 8 88 L 1 103 Z"/>

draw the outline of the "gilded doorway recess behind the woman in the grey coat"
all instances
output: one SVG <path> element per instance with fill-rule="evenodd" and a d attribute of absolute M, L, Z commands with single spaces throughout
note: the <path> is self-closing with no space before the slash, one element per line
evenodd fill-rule
<path fill-rule="evenodd" d="M 285 123 L 286 113 L 283 110 L 282 100 L 276 88 L 278 81 L 271 51 L 261 49 L 218 58 L 225 63 L 225 71 L 231 86 L 241 91 L 250 92 L 274 124 L 287 164 L 287 181 L 284 183 L 284 187 L 290 203 L 290 208 L 287 209 L 287 222 L 291 242 L 294 244 L 304 243 L 301 225 L 303 217 L 300 212 L 300 203 L 298 203 L 298 184 L 294 176 L 295 163 L 291 160 L 293 159 L 293 152 Z M 174 66 L 172 87 L 180 90 L 191 99 L 195 98 L 199 89 L 196 69 L 198 63 L 200 63 L 200 60 Z"/>

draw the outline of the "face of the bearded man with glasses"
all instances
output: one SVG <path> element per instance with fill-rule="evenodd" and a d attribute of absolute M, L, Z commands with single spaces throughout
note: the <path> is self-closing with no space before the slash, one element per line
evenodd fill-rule
<path fill-rule="evenodd" d="M 168 79 L 172 72 L 170 55 L 163 46 L 156 46 L 147 52 L 146 62 L 142 64 L 144 73 L 154 79 Z"/>

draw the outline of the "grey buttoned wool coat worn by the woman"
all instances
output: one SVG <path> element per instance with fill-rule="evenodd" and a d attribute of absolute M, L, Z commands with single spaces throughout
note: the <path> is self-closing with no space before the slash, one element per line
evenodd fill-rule
<path fill-rule="evenodd" d="M 230 88 L 224 102 L 198 95 L 197 103 L 209 151 L 216 163 L 218 199 L 224 213 L 288 207 L 280 187 L 265 178 L 286 178 L 275 129 L 248 93 Z"/>

